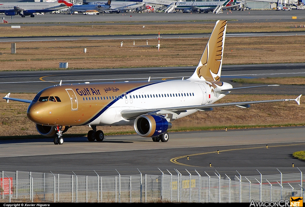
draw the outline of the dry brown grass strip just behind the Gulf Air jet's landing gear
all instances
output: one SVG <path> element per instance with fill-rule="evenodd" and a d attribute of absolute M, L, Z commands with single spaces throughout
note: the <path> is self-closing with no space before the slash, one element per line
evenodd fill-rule
<path fill-rule="evenodd" d="M 0 94 L 1 97 L 5 94 Z M 32 99 L 35 94 L 15 94 L 15 98 Z M 228 95 L 220 102 L 238 102 L 271 100 L 282 98 L 296 98 L 285 95 Z M 0 102 L 0 133 L 2 136 L 38 135 L 35 124 L 27 118 L 27 103 L 5 100 Z M 173 122 L 172 129 L 192 130 L 204 127 L 223 126 L 231 128 L 260 127 L 262 125 L 304 125 L 305 100 L 301 105 L 296 102 L 276 102 L 254 104 L 248 109 L 235 106 L 215 108 L 211 112 L 196 112 Z M 133 126 L 98 126 L 105 133 L 133 131 Z M 68 134 L 87 134 L 88 126 L 74 126 L 67 131 Z"/>

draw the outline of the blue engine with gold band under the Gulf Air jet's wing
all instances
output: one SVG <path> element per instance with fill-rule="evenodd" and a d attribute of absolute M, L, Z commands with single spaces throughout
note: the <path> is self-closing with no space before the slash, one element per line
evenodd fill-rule
<path fill-rule="evenodd" d="M 143 137 L 155 137 L 170 129 L 172 124 L 163 116 L 142 115 L 134 122 L 135 132 Z"/>

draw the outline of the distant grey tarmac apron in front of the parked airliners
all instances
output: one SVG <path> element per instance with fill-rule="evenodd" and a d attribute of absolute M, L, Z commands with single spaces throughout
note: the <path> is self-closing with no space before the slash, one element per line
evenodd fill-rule
<path fill-rule="evenodd" d="M 132 18 L 130 18 L 130 15 Z M 297 16 L 297 19 L 292 19 L 292 16 Z M 273 11 L 273 10 L 250 10 L 250 11 L 224 11 L 222 14 L 190 14 L 190 13 L 120 13 L 120 14 L 100 14 L 100 15 L 65 15 L 60 14 L 45 14 L 35 15 L 34 18 L 29 16 L 21 18 L 21 16 L 0 15 L 0 18 L 5 19 L 12 24 L 26 23 L 21 26 L 53 26 L 53 25 L 113 25 L 113 24 L 179 24 L 180 22 L 198 23 L 196 21 L 216 21 L 218 19 L 229 20 L 229 22 L 300 22 L 303 20 L 304 10 L 291 11 Z M 194 22 L 195 21 L 195 22 Z M 34 24 L 39 23 L 39 24 Z M 144 24 L 143 24 L 144 23 Z M 10 26 L 9 24 L 0 24 L 1 26 Z"/>

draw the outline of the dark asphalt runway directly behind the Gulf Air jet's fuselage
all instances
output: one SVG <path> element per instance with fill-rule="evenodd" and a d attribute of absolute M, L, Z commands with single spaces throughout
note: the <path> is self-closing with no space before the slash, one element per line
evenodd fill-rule
<path fill-rule="evenodd" d="M 113 82 L 113 81 L 145 81 L 151 76 L 152 80 L 174 80 L 188 78 L 196 67 L 148 67 L 148 68 L 116 68 L 92 70 L 57 70 L 57 71 L 4 71 L 0 72 L 0 92 L 38 93 L 43 88 L 63 83 Z M 252 86 L 261 84 L 239 84 L 233 78 L 266 78 L 266 77 L 295 77 L 305 76 L 305 63 L 291 64 L 250 64 L 223 65 L 221 81 L 229 82 L 233 87 Z M 252 88 L 232 91 L 232 94 L 289 94 L 304 93 L 304 85 L 280 85 L 269 88 Z M 12 96 L 13 97 L 13 96 Z"/>

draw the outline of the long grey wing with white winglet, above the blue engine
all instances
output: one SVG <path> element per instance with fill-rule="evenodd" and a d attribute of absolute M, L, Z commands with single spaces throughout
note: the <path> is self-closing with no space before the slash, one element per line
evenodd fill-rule
<path fill-rule="evenodd" d="M 181 112 L 186 112 L 186 110 L 196 109 L 198 111 L 211 111 L 214 107 L 224 107 L 224 106 L 237 106 L 239 108 L 249 108 L 250 104 L 258 103 L 269 103 L 269 102 L 282 102 L 282 101 L 296 101 L 300 105 L 299 95 L 296 99 L 278 99 L 278 100 L 265 100 L 265 101 L 248 101 L 248 102 L 231 102 L 231 103 L 219 103 L 219 104 L 205 104 L 205 105 L 192 105 L 192 106 L 181 106 L 181 107 L 168 107 L 160 109 L 139 109 L 139 110 L 123 110 L 121 112 L 122 117 L 125 119 L 135 119 L 143 114 L 154 114 L 159 111 L 168 111 L 176 114 Z"/>

